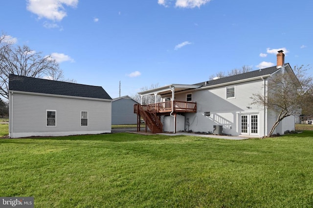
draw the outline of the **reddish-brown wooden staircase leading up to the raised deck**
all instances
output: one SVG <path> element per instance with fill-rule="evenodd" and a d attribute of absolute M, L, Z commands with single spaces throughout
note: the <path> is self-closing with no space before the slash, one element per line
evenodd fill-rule
<path fill-rule="evenodd" d="M 162 133 L 163 124 L 161 123 L 160 118 L 156 113 L 150 113 L 146 109 L 146 106 L 141 106 L 139 104 L 134 105 L 134 113 L 137 113 L 138 121 L 137 125 L 140 125 L 140 117 L 145 121 L 146 126 L 149 127 L 152 133 Z M 140 128 L 137 128 L 137 131 L 140 131 Z M 147 131 L 147 128 L 146 128 Z"/>

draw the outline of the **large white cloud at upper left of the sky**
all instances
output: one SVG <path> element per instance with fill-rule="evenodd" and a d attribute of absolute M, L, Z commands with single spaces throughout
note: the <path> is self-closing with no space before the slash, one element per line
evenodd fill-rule
<path fill-rule="evenodd" d="M 61 21 L 67 16 L 64 5 L 76 7 L 78 0 L 27 0 L 27 10 L 38 18 Z"/>

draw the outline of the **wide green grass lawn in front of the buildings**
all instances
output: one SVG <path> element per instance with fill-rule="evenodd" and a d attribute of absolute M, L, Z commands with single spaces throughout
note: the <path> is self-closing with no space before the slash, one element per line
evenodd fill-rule
<path fill-rule="evenodd" d="M 313 207 L 313 132 L 0 139 L 0 196 L 36 208 Z"/>

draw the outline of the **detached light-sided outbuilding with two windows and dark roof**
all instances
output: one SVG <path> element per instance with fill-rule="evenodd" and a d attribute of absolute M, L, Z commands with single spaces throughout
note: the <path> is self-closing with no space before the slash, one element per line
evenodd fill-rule
<path fill-rule="evenodd" d="M 112 98 L 98 86 L 9 76 L 9 136 L 111 132 Z"/>

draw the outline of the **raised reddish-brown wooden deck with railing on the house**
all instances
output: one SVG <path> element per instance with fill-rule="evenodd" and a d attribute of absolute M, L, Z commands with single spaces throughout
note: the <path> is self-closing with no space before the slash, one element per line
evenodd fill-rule
<path fill-rule="evenodd" d="M 173 105 L 172 105 L 173 103 Z M 134 113 L 137 113 L 137 105 L 134 105 Z M 161 103 L 154 103 L 141 106 L 144 111 L 149 113 L 196 113 L 197 103 L 184 101 L 166 101 Z"/>

